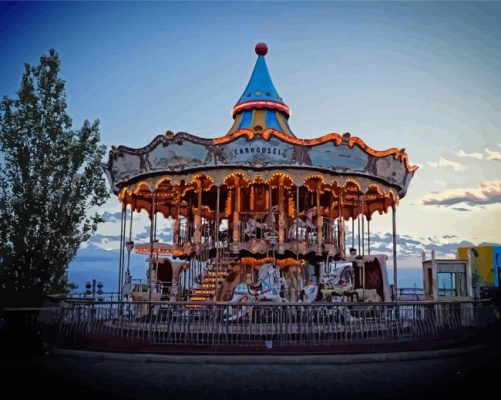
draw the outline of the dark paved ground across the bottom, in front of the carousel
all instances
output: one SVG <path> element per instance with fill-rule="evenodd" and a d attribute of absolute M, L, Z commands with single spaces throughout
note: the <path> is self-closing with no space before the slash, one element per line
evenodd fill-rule
<path fill-rule="evenodd" d="M 16 397 L 169 399 L 475 399 L 492 397 L 500 347 L 423 360 L 196 364 L 68 355 L 3 360 L 3 392 Z M 498 390 L 497 390 L 498 391 Z M 499 393 L 499 391 L 498 391 Z"/>

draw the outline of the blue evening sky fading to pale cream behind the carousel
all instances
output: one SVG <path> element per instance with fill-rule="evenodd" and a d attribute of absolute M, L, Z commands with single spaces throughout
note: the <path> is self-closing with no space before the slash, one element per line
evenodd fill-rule
<path fill-rule="evenodd" d="M 350 132 L 420 167 L 397 211 L 399 265 L 419 267 L 501 243 L 500 18 L 496 2 L 0 3 L 0 95 L 55 48 L 75 128 L 99 119 L 107 146 L 223 136 L 264 41 L 296 136 Z M 116 248 L 119 209 L 87 250 Z M 391 216 L 371 231 L 391 252 Z"/>

